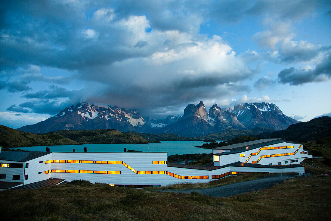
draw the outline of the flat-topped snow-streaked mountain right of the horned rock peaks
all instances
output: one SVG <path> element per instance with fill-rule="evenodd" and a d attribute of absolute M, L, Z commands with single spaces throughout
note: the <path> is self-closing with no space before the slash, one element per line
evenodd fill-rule
<path fill-rule="evenodd" d="M 237 105 L 231 113 L 236 114 L 237 119 L 248 129 L 265 127 L 284 130 L 289 125 L 300 122 L 286 116 L 276 105 L 266 102 Z"/>

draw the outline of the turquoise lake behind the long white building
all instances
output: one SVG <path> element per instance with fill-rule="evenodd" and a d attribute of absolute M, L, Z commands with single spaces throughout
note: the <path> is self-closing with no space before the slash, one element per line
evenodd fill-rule
<path fill-rule="evenodd" d="M 12 149 L 22 149 L 28 151 L 46 151 L 49 147 L 53 152 L 84 152 L 84 147 L 87 147 L 88 152 L 121 152 L 126 150 L 139 150 L 149 152 L 168 152 L 169 155 L 174 154 L 194 154 L 194 153 L 211 153 L 212 149 L 202 149 L 202 141 L 161 141 L 161 143 L 148 144 L 83 144 L 83 145 L 59 145 L 59 146 L 38 146 L 38 147 L 20 147 Z"/>

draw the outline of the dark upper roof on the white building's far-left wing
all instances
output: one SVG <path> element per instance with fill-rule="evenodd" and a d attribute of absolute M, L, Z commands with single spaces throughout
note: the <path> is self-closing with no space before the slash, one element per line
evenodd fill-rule
<path fill-rule="evenodd" d="M 26 162 L 50 153 L 51 152 L 2 151 L 0 153 L 0 160 Z"/>

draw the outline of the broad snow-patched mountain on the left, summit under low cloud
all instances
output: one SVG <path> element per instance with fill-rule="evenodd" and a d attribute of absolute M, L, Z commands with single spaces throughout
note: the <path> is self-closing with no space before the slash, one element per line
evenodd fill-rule
<path fill-rule="evenodd" d="M 31 133 L 56 130 L 118 129 L 120 131 L 144 131 L 148 127 L 143 116 L 136 110 L 103 107 L 81 103 L 60 111 L 54 117 L 33 125 L 18 128 Z"/>

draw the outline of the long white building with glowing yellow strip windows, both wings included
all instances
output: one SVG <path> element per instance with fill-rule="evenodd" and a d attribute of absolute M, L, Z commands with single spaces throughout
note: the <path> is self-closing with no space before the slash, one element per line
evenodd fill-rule
<path fill-rule="evenodd" d="M 0 152 L 0 189 L 36 188 L 72 180 L 119 186 L 207 183 L 246 173 L 303 173 L 312 158 L 303 145 L 261 139 L 213 148 L 204 166 L 167 163 L 167 152 Z"/>

